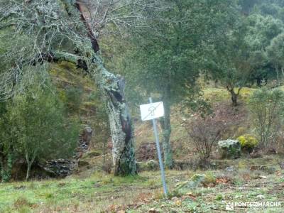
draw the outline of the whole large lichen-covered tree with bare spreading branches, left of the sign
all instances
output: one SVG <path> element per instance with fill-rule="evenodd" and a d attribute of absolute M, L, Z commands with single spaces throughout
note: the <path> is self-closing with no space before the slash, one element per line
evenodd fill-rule
<path fill-rule="evenodd" d="M 11 96 L 23 67 L 65 60 L 87 72 L 107 102 L 113 143 L 114 175 L 136 174 L 133 128 L 124 96 L 124 78 L 109 72 L 99 56 L 99 36 L 108 29 L 131 28 L 143 20 L 136 13 L 151 1 L 6 1 L 1 0 L 0 29 L 13 40 L 6 53 L 9 69 L 1 73 L 1 90 Z M 109 32 L 109 31 L 108 31 Z M 21 43 L 20 40 L 24 42 Z M 17 55 L 15 57 L 14 55 Z M 3 84 L 2 84 L 3 83 Z"/>

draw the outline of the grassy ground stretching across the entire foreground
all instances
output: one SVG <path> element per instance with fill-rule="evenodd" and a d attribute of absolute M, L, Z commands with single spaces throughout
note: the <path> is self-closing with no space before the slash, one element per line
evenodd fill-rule
<path fill-rule="evenodd" d="M 276 163 L 277 158 L 280 157 L 227 160 L 226 163 L 236 168 L 232 173 L 225 170 L 167 170 L 171 193 L 168 200 L 163 198 L 158 171 L 125 178 L 95 172 L 87 178 L 72 176 L 62 180 L 5 183 L 0 184 L 0 212 L 148 212 L 149 209 L 160 212 L 224 212 L 227 202 L 284 204 L 284 174 Z M 250 171 L 253 164 L 274 166 L 277 172 Z M 173 193 L 178 182 L 189 180 L 196 173 L 207 176 L 206 185 L 181 195 Z M 243 208 L 239 211 L 282 212 L 276 207 L 261 210 Z"/>

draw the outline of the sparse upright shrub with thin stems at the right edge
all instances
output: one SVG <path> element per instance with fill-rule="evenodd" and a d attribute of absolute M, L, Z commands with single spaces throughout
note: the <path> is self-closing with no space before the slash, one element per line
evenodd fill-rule
<path fill-rule="evenodd" d="M 249 107 L 261 147 L 268 146 L 283 118 L 284 92 L 280 89 L 258 89 L 251 95 Z"/>

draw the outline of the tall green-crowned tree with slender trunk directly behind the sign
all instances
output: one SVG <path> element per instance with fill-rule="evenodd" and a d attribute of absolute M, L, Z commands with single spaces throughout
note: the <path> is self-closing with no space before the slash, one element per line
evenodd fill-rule
<path fill-rule="evenodd" d="M 133 66 L 126 71 L 126 80 L 138 90 L 128 93 L 129 96 L 145 99 L 152 93 L 163 101 L 165 116 L 160 120 L 163 153 L 165 166 L 171 168 L 170 108 L 196 92 L 196 80 L 206 58 L 203 48 L 212 40 L 221 39 L 224 28 L 231 22 L 229 14 L 234 13 L 235 4 L 234 1 L 158 3 L 163 10 L 149 21 L 148 28 L 142 28 L 130 39 L 126 60 L 131 59 Z"/>

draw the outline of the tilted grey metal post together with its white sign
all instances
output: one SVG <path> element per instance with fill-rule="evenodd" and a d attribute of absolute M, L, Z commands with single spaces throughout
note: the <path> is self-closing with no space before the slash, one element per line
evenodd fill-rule
<path fill-rule="evenodd" d="M 163 182 L 163 191 L 164 191 L 165 197 L 167 197 L 168 192 L 167 192 L 167 185 L 165 184 L 165 170 L 163 167 L 162 155 L 160 153 L 160 143 L 159 143 L 157 126 L 155 124 L 155 118 L 164 116 L 164 107 L 163 107 L 163 102 L 153 103 L 151 97 L 149 98 L 149 102 L 150 104 L 140 105 L 141 119 L 142 121 L 148 121 L 148 120 L 153 121 L 153 128 L 154 128 L 154 134 L 155 134 L 155 145 L 157 146 L 158 159 L 159 159 L 159 164 L 160 164 L 160 175 L 162 177 L 162 182 Z"/>

